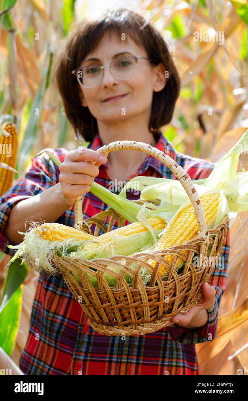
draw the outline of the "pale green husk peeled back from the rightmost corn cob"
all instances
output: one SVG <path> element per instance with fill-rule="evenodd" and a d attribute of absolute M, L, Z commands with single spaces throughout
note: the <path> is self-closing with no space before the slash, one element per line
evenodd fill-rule
<path fill-rule="evenodd" d="M 230 212 L 248 211 L 248 172 L 242 171 L 237 173 L 239 155 L 241 151 L 246 152 L 247 150 L 248 130 L 216 164 L 202 185 L 196 184 L 196 181 L 194 181 L 199 196 L 211 192 L 220 193 L 217 216 L 215 221 L 212 221 L 211 226 L 208 226 L 208 229 L 219 224 L 224 216 Z M 169 229 L 181 210 L 191 205 L 190 199 L 181 186 L 181 183 L 176 180 L 148 186 L 141 191 L 140 198 L 142 200 L 158 198 L 167 203 L 171 202 L 171 207 L 172 205 L 181 203 L 181 206 L 175 211 L 173 218 L 160 235 Z"/>

